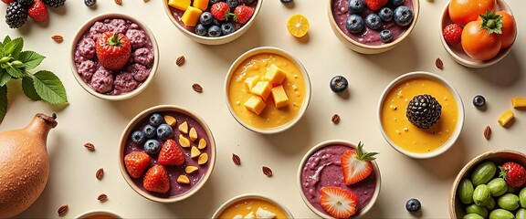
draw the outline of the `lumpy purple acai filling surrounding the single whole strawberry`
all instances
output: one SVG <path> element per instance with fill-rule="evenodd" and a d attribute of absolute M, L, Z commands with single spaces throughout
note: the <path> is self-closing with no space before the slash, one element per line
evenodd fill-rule
<path fill-rule="evenodd" d="M 100 65 L 96 55 L 97 38 L 106 31 L 120 32 L 128 37 L 132 46 L 130 60 L 117 71 Z M 84 33 L 75 49 L 77 72 L 91 89 L 108 95 L 120 95 L 137 89 L 148 78 L 153 67 L 153 43 L 141 26 L 131 20 L 113 18 L 96 21 Z"/>

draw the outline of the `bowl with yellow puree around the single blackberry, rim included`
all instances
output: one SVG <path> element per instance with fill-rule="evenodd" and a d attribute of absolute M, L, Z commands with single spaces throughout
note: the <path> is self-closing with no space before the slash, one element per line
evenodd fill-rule
<path fill-rule="evenodd" d="M 441 113 L 434 124 L 422 128 L 416 125 L 419 123 L 409 120 L 406 113 L 412 100 L 427 95 L 437 100 Z M 418 99 L 418 102 L 421 100 Z M 416 107 L 420 113 L 421 110 L 431 111 L 426 104 L 433 106 L 430 102 L 418 104 L 412 105 L 412 113 L 415 113 Z M 422 71 L 395 78 L 384 89 L 378 103 L 380 130 L 385 141 L 396 151 L 416 159 L 435 157 L 453 146 L 464 125 L 464 114 L 464 105 L 457 90 L 446 79 Z M 428 116 L 425 113 L 422 115 Z M 421 120 L 416 116 L 412 118 Z"/>

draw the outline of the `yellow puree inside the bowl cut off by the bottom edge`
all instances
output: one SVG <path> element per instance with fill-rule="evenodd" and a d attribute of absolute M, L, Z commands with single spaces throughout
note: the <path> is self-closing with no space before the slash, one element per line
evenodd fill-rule
<path fill-rule="evenodd" d="M 237 214 L 245 216 L 250 212 L 254 212 L 254 214 L 256 214 L 258 208 L 262 208 L 264 210 L 276 214 L 275 218 L 287 218 L 287 214 L 285 214 L 285 212 L 283 212 L 283 210 L 281 210 L 281 208 L 279 208 L 277 205 L 269 203 L 265 200 L 255 198 L 247 198 L 231 204 L 218 216 L 218 218 L 230 219 L 236 216 Z"/>

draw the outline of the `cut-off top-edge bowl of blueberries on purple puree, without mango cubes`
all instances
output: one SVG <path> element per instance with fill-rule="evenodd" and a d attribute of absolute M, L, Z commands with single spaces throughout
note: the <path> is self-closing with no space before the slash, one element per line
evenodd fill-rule
<path fill-rule="evenodd" d="M 419 0 L 328 0 L 332 31 L 342 43 L 363 54 L 378 54 L 398 46 L 413 31 Z"/>

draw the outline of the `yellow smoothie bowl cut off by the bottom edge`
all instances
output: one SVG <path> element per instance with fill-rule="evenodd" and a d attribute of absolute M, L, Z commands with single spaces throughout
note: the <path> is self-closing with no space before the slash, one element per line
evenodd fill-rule
<path fill-rule="evenodd" d="M 257 193 L 240 194 L 221 204 L 212 218 L 294 218 L 285 205 Z"/>

